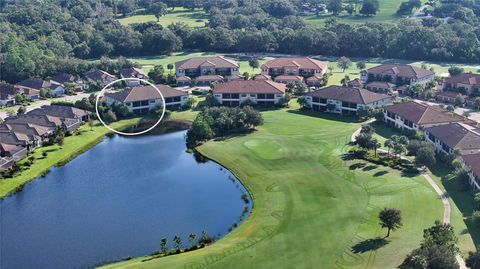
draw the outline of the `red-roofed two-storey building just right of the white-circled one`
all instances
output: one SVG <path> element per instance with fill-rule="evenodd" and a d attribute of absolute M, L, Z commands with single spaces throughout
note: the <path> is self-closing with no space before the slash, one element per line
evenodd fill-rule
<path fill-rule="evenodd" d="M 273 106 L 285 97 L 285 84 L 271 80 L 242 80 L 217 84 L 213 96 L 224 106 L 239 106 L 250 100 L 260 106 Z"/>

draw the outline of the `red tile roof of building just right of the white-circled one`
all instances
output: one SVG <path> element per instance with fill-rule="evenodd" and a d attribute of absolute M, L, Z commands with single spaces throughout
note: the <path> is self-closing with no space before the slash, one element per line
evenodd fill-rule
<path fill-rule="evenodd" d="M 270 80 L 234 80 L 215 86 L 214 93 L 285 93 L 285 84 Z"/>

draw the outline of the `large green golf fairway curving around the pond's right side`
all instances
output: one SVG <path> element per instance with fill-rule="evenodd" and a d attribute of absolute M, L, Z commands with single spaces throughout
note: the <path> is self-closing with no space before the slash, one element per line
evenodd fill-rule
<path fill-rule="evenodd" d="M 297 109 L 263 115 L 257 132 L 198 148 L 250 190 L 244 224 L 205 249 L 107 268 L 394 268 L 443 217 L 423 178 L 342 158 L 359 123 Z M 383 207 L 404 218 L 387 239 Z"/>

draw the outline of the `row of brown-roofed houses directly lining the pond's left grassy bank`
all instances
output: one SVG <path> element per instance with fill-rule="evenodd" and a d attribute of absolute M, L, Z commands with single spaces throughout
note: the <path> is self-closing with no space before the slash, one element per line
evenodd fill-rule
<path fill-rule="evenodd" d="M 6 118 L 0 124 L 0 171 L 11 168 L 29 151 L 48 141 L 58 127 L 74 131 L 88 117 L 87 111 L 52 105 Z"/>

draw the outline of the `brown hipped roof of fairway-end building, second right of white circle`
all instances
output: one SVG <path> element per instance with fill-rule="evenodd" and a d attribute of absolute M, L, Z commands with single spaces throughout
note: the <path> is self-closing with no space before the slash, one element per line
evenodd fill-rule
<path fill-rule="evenodd" d="M 341 86 L 330 86 L 325 89 L 308 93 L 307 95 L 357 104 L 370 104 L 376 101 L 391 98 L 391 96 L 386 94 L 374 93 L 360 88 Z"/>

